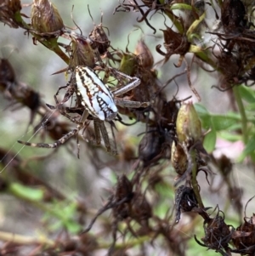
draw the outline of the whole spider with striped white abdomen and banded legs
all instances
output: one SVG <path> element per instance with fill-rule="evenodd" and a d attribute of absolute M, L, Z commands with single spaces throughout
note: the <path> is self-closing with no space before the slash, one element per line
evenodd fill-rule
<path fill-rule="evenodd" d="M 29 145 L 32 147 L 57 148 L 59 145 L 63 145 L 72 136 L 78 134 L 82 128 L 86 129 L 88 127 L 88 116 L 90 115 L 94 120 L 94 130 L 97 145 L 100 145 L 100 131 L 105 141 L 106 150 L 116 154 L 116 150 L 111 151 L 110 140 L 104 122 L 110 122 L 111 128 L 114 126 L 112 120 L 116 118 L 118 112 L 116 105 L 129 108 L 145 108 L 150 105 L 150 102 L 139 102 L 119 98 L 119 95 L 125 94 L 133 88 L 139 86 L 140 79 L 138 77 L 129 77 L 120 71 L 116 71 L 114 68 L 108 67 L 107 69 L 109 69 L 114 76 L 123 77 L 124 80 L 129 82 L 126 85 L 111 91 L 107 84 L 101 80 L 93 69 L 88 66 L 77 65 L 74 72 L 71 74 L 70 81 L 66 84 L 66 86 L 59 88 L 59 90 L 61 88 L 67 88 L 64 100 L 62 100 L 60 103 L 57 100 L 56 95 L 59 93 L 58 90 L 58 92 L 54 95 L 56 107 L 48 105 L 50 109 L 58 109 L 60 114 L 70 119 L 71 122 L 77 123 L 77 128 L 74 128 L 68 134 L 65 134 L 63 137 L 51 144 L 31 143 L 20 140 L 18 140 L 18 142 L 20 144 Z M 71 112 L 73 108 L 63 107 L 65 101 L 69 100 L 74 93 L 77 94 L 78 107 L 76 109 L 79 109 L 79 112 L 82 110 L 82 116 L 79 121 L 67 114 L 67 110 Z M 79 157 L 79 144 L 77 143 L 77 145 Z"/>

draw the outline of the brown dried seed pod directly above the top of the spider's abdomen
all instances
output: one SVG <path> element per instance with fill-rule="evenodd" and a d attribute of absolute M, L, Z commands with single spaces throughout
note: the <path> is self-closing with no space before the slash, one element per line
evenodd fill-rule
<path fill-rule="evenodd" d="M 71 37 L 71 50 L 72 56 L 69 63 L 71 70 L 74 70 L 77 65 L 86 65 L 94 68 L 94 51 L 86 40 L 82 38 Z"/>

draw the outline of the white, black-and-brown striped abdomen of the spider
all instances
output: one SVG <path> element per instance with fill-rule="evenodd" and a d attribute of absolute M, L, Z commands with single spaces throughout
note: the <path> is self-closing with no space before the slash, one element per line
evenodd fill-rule
<path fill-rule="evenodd" d="M 76 67 L 76 83 L 78 94 L 82 97 L 82 105 L 89 114 L 100 120 L 112 120 L 116 117 L 117 108 L 108 86 L 88 66 Z"/>

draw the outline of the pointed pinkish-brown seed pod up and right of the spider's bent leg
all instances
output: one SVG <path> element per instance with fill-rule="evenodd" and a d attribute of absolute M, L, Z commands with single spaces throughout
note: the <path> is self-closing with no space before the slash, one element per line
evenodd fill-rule
<path fill-rule="evenodd" d="M 150 49 L 144 43 L 143 39 L 139 40 L 137 43 L 134 54 L 138 55 L 141 66 L 148 69 L 152 68 L 152 65 L 154 64 L 154 58 L 150 52 Z"/>

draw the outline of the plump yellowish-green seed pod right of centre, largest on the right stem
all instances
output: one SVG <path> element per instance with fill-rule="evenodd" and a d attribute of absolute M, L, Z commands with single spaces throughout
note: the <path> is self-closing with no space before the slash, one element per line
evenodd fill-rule
<path fill-rule="evenodd" d="M 176 120 L 178 142 L 189 144 L 201 139 L 201 122 L 192 102 L 181 105 Z"/>

